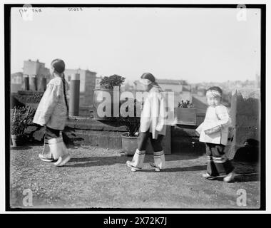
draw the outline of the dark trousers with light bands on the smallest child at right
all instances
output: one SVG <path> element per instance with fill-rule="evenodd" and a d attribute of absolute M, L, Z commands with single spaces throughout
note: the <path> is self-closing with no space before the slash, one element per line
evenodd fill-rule
<path fill-rule="evenodd" d="M 224 176 L 234 169 L 225 155 L 225 145 L 206 143 L 207 172 L 211 176 Z"/>

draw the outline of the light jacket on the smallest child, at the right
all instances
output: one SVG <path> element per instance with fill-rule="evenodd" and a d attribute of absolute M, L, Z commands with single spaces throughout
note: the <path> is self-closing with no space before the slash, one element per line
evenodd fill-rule
<path fill-rule="evenodd" d="M 222 126 L 222 130 L 209 135 L 205 134 L 205 130 L 219 125 Z M 230 125 L 230 115 L 224 105 L 218 105 L 216 107 L 209 106 L 206 111 L 205 120 L 198 126 L 196 131 L 200 133 L 200 142 L 227 145 Z"/>

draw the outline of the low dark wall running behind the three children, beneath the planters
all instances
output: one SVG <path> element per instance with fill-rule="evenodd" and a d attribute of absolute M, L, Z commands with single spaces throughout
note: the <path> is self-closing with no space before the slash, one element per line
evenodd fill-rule
<path fill-rule="evenodd" d="M 113 121 L 98 121 L 93 118 L 69 118 L 63 130 L 63 140 L 73 145 L 92 145 L 97 147 L 121 149 L 121 135 L 126 127 Z M 44 128 L 31 125 L 26 129 L 26 135 L 35 143 L 43 143 Z M 172 152 L 205 152 L 204 144 L 198 142 L 195 126 L 167 126 L 166 136 L 162 141 L 165 154 Z M 152 153 L 148 142 L 147 153 Z"/>

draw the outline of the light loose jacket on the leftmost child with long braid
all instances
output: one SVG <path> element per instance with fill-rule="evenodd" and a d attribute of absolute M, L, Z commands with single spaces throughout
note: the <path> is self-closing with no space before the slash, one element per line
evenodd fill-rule
<path fill-rule="evenodd" d="M 46 125 L 48 128 L 56 130 L 63 130 L 67 116 L 62 79 L 56 77 L 49 81 L 34 115 L 33 123 L 42 126 Z"/>

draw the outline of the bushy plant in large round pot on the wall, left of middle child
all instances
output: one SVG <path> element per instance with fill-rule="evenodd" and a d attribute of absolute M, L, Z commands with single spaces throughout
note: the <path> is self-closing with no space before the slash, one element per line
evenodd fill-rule
<path fill-rule="evenodd" d="M 93 117 L 96 120 L 114 120 L 114 106 L 119 108 L 119 90 L 125 78 L 114 74 L 113 76 L 104 77 L 100 82 L 100 88 L 96 88 L 93 94 Z M 114 88 L 118 90 L 114 91 Z M 114 97 L 114 92 L 116 98 Z M 115 105 L 114 105 L 115 104 Z M 111 111 L 106 112 L 106 108 Z M 110 108 L 110 109 L 109 109 Z M 109 115 L 109 116 L 108 116 Z"/>

